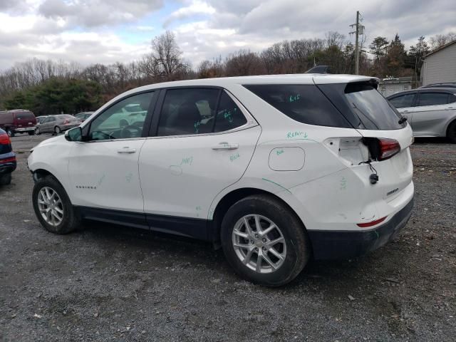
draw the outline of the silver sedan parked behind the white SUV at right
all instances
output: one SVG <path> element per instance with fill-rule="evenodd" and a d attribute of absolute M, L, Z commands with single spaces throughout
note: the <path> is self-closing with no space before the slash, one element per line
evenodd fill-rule
<path fill-rule="evenodd" d="M 418 88 L 388 96 L 415 137 L 447 137 L 456 143 L 456 89 Z"/>

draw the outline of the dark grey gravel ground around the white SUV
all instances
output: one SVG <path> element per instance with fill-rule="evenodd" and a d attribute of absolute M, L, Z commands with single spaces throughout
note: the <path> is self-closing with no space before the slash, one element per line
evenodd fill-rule
<path fill-rule="evenodd" d="M 417 140 L 415 209 L 359 259 L 311 261 L 288 286 L 239 279 L 210 244 L 101 224 L 53 235 L 12 139 L 0 189 L 1 341 L 455 341 L 456 145 Z"/>

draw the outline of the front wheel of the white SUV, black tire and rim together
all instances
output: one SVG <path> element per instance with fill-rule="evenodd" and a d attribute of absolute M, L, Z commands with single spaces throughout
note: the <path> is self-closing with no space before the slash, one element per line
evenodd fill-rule
<path fill-rule="evenodd" d="M 54 192 L 57 197 L 53 195 Z M 44 196 L 46 196 L 46 198 Z M 38 199 L 41 204 L 38 203 Z M 53 200 L 55 201 L 56 199 L 60 199 L 60 202 L 53 202 Z M 35 183 L 32 192 L 32 202 L 36 217 L 48 232 L 54 234 L 68 234 L 78 229 L 81 225 L 81 217 L 71 204 L 65 189 L 63 189 L 61 184 L 52 176 L 40 178 L 38 182 Z M 43 202 L 45 202 L 45 204 L 42 204 Z M 57 209 L 51 209 L 51 214 L 41 213 L 40 209 L 46 209 L 52 205 L 53 208 L 60 209 L 61 212 L 58 212 Z M 46 219 L 43 215 L 46 216 Z"/>

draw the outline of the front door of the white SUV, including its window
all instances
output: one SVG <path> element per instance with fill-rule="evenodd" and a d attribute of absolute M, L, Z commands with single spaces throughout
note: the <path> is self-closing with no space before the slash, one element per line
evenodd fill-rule
<path fill-rule="evenodd" d="M 138 158 L 152 98 L 153 92 L 124 98 L 88 123 L 89 141 L 75 142 L 69 157 L 73 204 L 143 213 Z"/>

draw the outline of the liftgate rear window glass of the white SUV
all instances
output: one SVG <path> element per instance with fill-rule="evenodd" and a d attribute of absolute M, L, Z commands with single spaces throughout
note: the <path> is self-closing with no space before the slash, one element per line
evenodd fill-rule
<path fill-rule="evenodd" d="M 401 115 L 370 83 L 348 83 L 344 90 L 351 111 L 366 130 L 398 130 Z M 361 127 L 360 127 L 361 128 Z"/>

